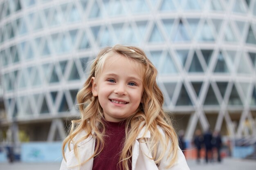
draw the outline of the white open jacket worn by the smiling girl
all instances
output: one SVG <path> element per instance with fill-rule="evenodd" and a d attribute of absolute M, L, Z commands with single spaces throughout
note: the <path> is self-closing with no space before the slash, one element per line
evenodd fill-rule
<path fill-rule="evenodd" d="M 154 160 L 149 158 L 149 157 L 152 158 L 152 154 L 150 153 L 146 143 L 139 142 L 139 139 L 144 135 L 145 129 L 146 129 L 145 127 L 142 128 L 132 148 L 132 170 L 189 170 L 189 167 L 186 163 L 186 159 L 182 151 L 180 150 L 180 148 L 178 148 L 178 151 L 177 151 L 177 161 L 171 168 L 166 169 L 166 166 L 168 166 L 168 164 L 170 163 L 170 158 L 167 158 L 168 151 L 166 151 L 163 159 L 156 165 Z M 164 132 L 162 128 L 158 127 L 158 129 L 164 136 Z M 79 139 L 84 135 L 86 135 L 85 131 L 79 133 L 79 135 L 77 135 L 75 139 Z M 146 132 L 145 137 L 150 138 L 150 131 Z M 168 146 L 170 146 L 170 143 L 171 141 L 169 142 Z M 80 144 L 78 144 L 78 146 L 79 146 L 79 157 L 81 159 L 80 162 L 83 162 L 93 154 L 95 139 L 92 136 L 88 137 L 87 139 L 82 141 Z M 72 144 L 70 149 L 71 150 L 69 150 L 68 148 L 66 149 L 65 157 L 67 162 L 64 159 L 62 160 L 60 170 L 79 170 L 78 166 L 76 166 L 78 164 L 78 160 L 74 156 L 74 150 L 73 150 Z M 158 149 L 158 152 L 160 152 L 160 149 L 161 148 Z M 88 162 L 83 164 L 80 167 L 80 170 L 92 170 L 92 165 L 93 165 L 93 158 L 91 158 Z"/>

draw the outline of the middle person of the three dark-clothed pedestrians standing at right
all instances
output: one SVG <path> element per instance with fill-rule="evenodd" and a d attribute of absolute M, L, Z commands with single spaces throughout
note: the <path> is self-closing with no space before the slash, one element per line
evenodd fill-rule
<path fill-rule="evenodd" d="M 213 158 L 213 152 L 212 152 L 212 133 L 211 130 L 207 130 L 204 133 L 204 147 L 205 147 L 205 162 L 208 163 L 208 156 L 210 156 L 210 161 L 212 161 Z"/>

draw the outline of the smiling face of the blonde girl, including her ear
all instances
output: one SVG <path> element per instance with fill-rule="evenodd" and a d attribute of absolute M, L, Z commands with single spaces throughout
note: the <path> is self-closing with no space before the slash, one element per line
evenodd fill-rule
<path fill-rule="evenodd" d="M 113 53 L 92 77 L 92 94 L 98 97 L 107 121 L 118 122 L 134 114 L 143 93 L 142 68 L 135 61 Z"/>

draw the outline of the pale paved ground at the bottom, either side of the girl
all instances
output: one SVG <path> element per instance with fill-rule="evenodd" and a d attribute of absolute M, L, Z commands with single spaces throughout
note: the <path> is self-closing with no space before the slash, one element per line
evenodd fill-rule
<path fill-rule="evenodd" d="M 225 158 L 222 163 L 196 163 L 188 160 L 191 170 L 256 170 L 256 160 Z M 0 163 L 0 170 L 58 170 L 60 163 Z"/>

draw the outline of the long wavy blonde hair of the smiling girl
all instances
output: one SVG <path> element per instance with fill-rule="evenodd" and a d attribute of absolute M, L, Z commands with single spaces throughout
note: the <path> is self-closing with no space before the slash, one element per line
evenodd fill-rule
<path fill-rule="evenodd" d="M 64 159 L 65 146 L 67 145 L 70 149 L 71 142 L 74 144 L 74 155 L 78 159 L 78 166 L 98 155 L 104 147 L 105 126 L 102 121 L 103 110 L 99 104 L 98 97 L 94 97 L 92 95 L 91 79 L 101 73 L 104 62 L 110 52 L 117 53 L 130 60 L 138 62 L 144 70 L 144 91 L 141 104 L 139 104 L 136 113 L 126 119 L 126 138 L 119 159 L 121 167 L 124 170 L 129 169 L 128 164 L 132 157 L 132 145 L 134 144 L 136 137 L 139 135 L 141 128 L 144 126 L 146 127 L 146 131 L 149 130 L 151 133 L 150 141 L 143 139 L 144 142 L 147 142 L 148 148 L 152 153 L 153 158 L 151 159 L 153 159 L 155 163 L 159 163 L 159 161 L 164 157 L 165 152 L 168 152 L 168 157 L 171 158 L 168 167 L 171 167 L 177 159 L 178 140 L 176 132 L 171 124 L 171 119 L 162 108 L 164 97 L 156 83 L 157 69 L 153 66 L 150 60 L 148 60 L 144 51 L 138 47 L 123 46 L 119 44 L 112 48 L 107 47 L 102 49 L 92 62 L 90 75 L 84 83 L 83 88 L 81 88 L 77 94 L 77 102 L 79 104 L 81 119 L 72 121 L 70 133 L 63 141 L 62 151 Z M 163 136 L 157 126 L 161 127 L 164 131 L 165 139 L 163 139 Z M 87 132 L 87 135 L 77 141 L 74 141 L 74 137 L 83 130 Z M 95 148 L 93 155 L 88 160 L 80 162 L 80 158 L 78 156 L 78 144 L 90 136 L 97 139 L 97 147 Z M 157 157 L 157 147 L 159 145 L 162 149 L 160 150 L 159 157 Z"/>

